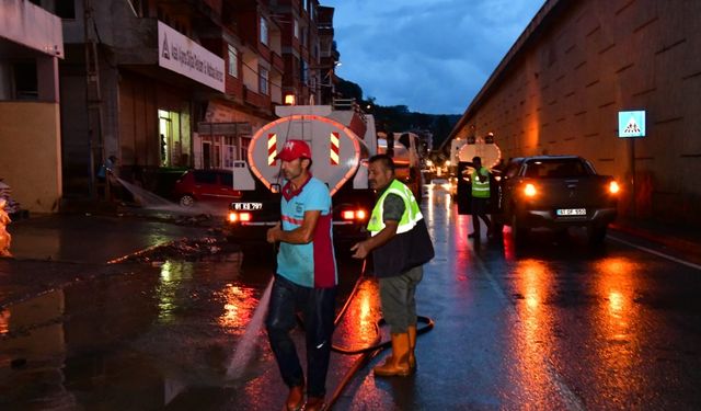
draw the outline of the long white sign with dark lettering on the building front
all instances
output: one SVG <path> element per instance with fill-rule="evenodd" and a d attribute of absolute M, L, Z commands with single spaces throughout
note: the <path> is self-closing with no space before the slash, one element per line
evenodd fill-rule
<path fill-rule="evenodd" d="M 161 22 L 158 22 L 158 64 L 223 93 L 223 60 Z"/>

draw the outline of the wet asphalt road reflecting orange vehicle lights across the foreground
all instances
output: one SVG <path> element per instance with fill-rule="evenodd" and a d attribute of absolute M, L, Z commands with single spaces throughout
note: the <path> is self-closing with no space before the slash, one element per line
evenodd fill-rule
<path fill-rule="evenodd" d="M 699 266 L 619 235 L 597 249 L 576 231 L 537 232 L 518 250 L 508 233 L 475 243 L 444 192 L 424 208 L 436 259 L 418 311 L 436 327 L 418 338 L 418 373 L 376 379 L 366 366 L 334 409 L 701 408 Z M 119 264 L 124 274 L 5 306 L 0 409 L 280 409 L 286 390 L 252 323 L 272 255 Z M 347 296 L 360 265 L 340 265 Z M 371 344 L 379 316 L 364 281 L 335 344 Z M 249 361 L 227 377 L 251 334 Z M 333 354 L 330 395 L 357 358 Z"/>

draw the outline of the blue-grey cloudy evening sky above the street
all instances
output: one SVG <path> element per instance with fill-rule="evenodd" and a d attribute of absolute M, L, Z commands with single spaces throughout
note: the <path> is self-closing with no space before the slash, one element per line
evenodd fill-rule
<path fill-rule="evenodd" d="M 462 114 L 543 0 L 320 0 L 337 73 L 381 105 Z"/>

